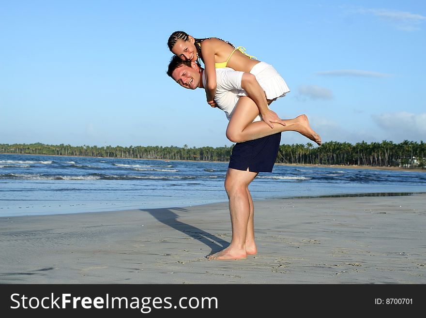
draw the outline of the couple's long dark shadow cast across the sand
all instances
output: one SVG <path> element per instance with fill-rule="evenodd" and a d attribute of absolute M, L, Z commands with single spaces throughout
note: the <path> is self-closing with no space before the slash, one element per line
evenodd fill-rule
<path fill-rule="evenodd" d="M 201 243 L 206 244 L 212 249 L 210 254 L 219 252 L 229 245 L 229 242 L 224 241 L 211 233 L 208 233 L 198 227 L 194 227 L 192 225 L 179 221 L 179 215 L 173 212 L 172 210 L 179 212 L 188 212 L 187 209 L 182 208 L 144 210 L 140 209 L 140 211 L 150 213 L 161 223 L 168 225 L 169 227 L 172 227 L 178 231 L 181 231 L 182 233 L 200 241 Z"/>

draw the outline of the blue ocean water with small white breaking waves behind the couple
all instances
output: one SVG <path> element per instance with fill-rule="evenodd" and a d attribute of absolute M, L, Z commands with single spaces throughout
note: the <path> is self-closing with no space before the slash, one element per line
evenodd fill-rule
<path fill-rule="evenodd" d="M 228 163 L 0 154 L 0 216 L 226 202 Z M 426 173 L 275 165 L 254 200 L 426 192 Z"/>

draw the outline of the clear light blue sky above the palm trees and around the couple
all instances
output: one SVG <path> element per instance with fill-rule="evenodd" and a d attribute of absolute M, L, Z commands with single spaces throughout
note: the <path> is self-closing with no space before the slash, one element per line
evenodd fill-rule
<path fill-rule="evenodd" d="M 231 145 L 225 113 L 174 83 L 168 36 L 241 45 L 323 141 L 426 141 L 424 1 L 0 0 L 0 143 Z M 281 143 L 306 143 L 294 132 Z"/>

